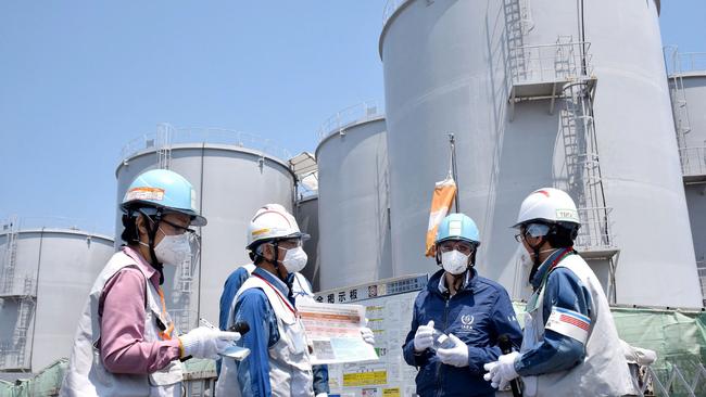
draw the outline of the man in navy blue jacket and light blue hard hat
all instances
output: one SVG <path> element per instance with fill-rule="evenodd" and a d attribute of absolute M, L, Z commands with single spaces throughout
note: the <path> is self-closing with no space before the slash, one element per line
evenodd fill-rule
<path fill-rule="evenodd" d="M 418 368 L 417 395 L 494 396 L 483 364 L 501 355 L 499 337 L 515 346 L 521 331 L 503 286 L 475 269 L 478 227 L 464 214 L 446 216 L 434 243 L 437 271 L 414 303 L 404 360 Z"/>

